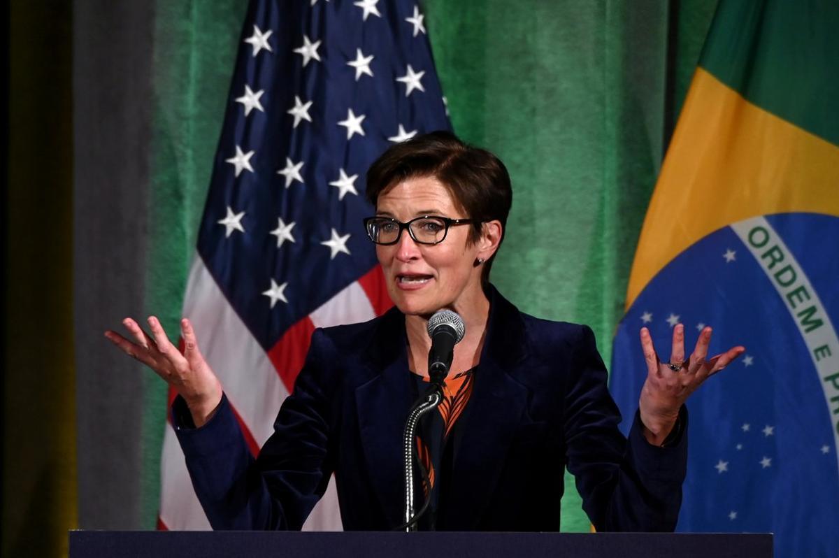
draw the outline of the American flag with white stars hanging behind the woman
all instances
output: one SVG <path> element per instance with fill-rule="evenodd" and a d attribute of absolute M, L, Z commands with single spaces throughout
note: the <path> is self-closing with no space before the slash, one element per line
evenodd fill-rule
<path fill-rule="evenodd" d="M 256 453 L 315 327 L 392 304 L 367 167 L 450 125 L 412 1 L 258 0 L 241 40 L 183 315 Z M 161 482 L 161 529 L 210 528 L 171 425 Z M 305 528 L 341 529 L 333 488 Z"/>

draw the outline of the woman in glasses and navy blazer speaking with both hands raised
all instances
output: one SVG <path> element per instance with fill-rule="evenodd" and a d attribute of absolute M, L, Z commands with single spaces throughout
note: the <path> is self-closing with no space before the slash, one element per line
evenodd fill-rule
<path fill-rule="evenodd" d="M 395 307 L 315 331 L 256 459 L 190 321 L 183 354 L 154 316 L 150 336 L 130 318 L 133 342 L 106 333 L 179 394 L 173 425 L 213 528 L 300 529 L 332 473 L 345 529 L 402 524 L 404 424 L 428 385 L 428 321 L 447 309 L 465 335 L 443 402 L 418 427 L 417 484 L 429 503 L 420 528 L 555 530 L 568 467 L 598 530 L 675 529 L 685 400 L 744 348 L 707 357 L 706 327 L 685 357 L 677 325 L 660 362 L 642 328 L 649 374 L 624 438 L 591 329 L 525 315 L 489 282 L 512 203 L 497 157 L 451 133 L 398 143 L 367 172 L 367 199 L 375 215 L 364 224 Z"/>

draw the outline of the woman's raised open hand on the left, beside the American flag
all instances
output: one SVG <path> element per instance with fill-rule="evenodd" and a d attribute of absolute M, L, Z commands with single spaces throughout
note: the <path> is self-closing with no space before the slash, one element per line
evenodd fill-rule
<path fill-rule="evenodd" d="M 129 357 L 136 358 L 154 370 L 186 401 L 195 426 L 210 420 L 221 403 L 221 383 L 207 364 L 198 348 L 198 340 L 190 321 L 180 321 L 180 335 L 184 339 L 184 353 L 169 342 L 160 321 L 149 316 L 149 336 L 136 321 L 126 318 L 122 325 L 131 332 L 131 342 L 116 331 L 108 330 L 105 336 Z"/>

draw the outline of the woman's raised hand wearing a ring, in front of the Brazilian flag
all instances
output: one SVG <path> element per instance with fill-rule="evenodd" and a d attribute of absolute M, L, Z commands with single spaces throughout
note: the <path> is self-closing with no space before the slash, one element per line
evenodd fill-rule
<path fill-rule="evenodd" d="M 649 335 L 649 330 L 646 327 L 641 328 L 641 347 L 647 361 L 647 379 L 641 388 L 638 409 L 641 422 L 644 423 L 644 437 L 654 446 L 661 446 L 670 430 L 673 430 L 676 419 L 679 418 L 679 409 L 688 396 L 696 391 L 702 382 L 746 351 L 746 347 L 737 346 L 706 358 L 710 342 L 711 328 L 706 327 L 699 334 L 693 353 L 685 360 L 685 326 L 677 324 L 673 328 L 670 362 L 661 362 L 653 347 L 653 338 Z"/>

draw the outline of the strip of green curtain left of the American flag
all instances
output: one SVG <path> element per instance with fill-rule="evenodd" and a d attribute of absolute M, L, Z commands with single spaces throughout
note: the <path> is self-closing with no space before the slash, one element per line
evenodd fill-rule
<path fill-rule="evenodd" d="M 180 311 L 247 3 L 159 0 L 154 20 L 152 143 L 149 146 L 149 259 L 145 315 L 170 339 Z M 147 375 L 143 411 L 143 528 L 154 528 L 160 501 L 160 451 L 166 385 Z"/>

